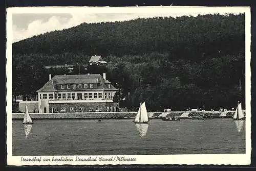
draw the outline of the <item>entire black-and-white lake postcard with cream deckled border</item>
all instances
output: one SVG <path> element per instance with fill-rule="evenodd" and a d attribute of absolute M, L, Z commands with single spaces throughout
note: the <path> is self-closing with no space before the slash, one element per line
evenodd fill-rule
<path fill-rule="evenodd" d="M 7 164 L 251 162 L 249 7 L 7 9 Z"/>

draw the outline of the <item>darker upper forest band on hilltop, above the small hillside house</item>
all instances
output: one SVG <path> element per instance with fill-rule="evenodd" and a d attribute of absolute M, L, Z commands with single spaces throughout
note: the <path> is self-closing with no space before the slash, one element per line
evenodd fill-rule
<path fill-rule="evenodd" d="M 206 56 L 244 54 L 244 26 L 244 14 L 83 23 L 16 42 L 13 53 L 122 56 L 167 52 L 172 59 L 198 60 Z M 70 62 L 72 58 L 70 55 Z"/>

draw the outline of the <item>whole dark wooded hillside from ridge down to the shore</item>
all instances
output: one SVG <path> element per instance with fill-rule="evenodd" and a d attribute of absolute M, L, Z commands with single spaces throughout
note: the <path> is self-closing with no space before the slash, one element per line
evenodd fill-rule
<path fill-rule="evenodd" d="M 209 109 L 238 99 L 244 105 L 244 14 L 83 23 L 13 43 L 13 93 L 36 94 L 48 74 L 69 74 L 44 65 L 87 64 L 91 55 L 108 63 L 72 74 L 105 71 L 120 89 L 120 106 L 146 101 L 150 110 Z"/>

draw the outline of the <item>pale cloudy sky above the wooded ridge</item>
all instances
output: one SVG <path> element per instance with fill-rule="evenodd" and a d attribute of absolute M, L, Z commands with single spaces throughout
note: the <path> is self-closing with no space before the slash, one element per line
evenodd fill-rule
<path fill-rule="evenodd" d="M 65 10 L 62 10 L 62 12 Z M 156 10 L 157 11 L 157 10 Z M 184 15 L 197 16 L 215 12 L 199 11 L 199 12 L 131 12 L 131 13 L 14 13 L 12 14 L 12 42 L 24 40 L 39 34 L 55 30 L 63 30 L 80 25 L 81 23 L 95 22 L 114 22 L 132 20 L 136 18 L 152 18 L 152 17 L 177 17 Z M 225 14 L 226 12 L 218 12 Z"/>

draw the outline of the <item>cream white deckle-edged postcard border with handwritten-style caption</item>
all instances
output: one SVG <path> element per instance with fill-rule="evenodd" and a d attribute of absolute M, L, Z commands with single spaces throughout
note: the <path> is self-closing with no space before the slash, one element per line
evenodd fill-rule
<path fill-rule="evenodd" d="M 86 8 L 86 10 L 84 10 Z M 245 13 L 245 31 L 246 31 L 246 153 L 245 154 L 193 154 L 193 155 L 111 155 L 111 156 L 12 156 L 12 14 L 19 13 L 181 13 L 180 10 L 187 13 L 198 13 L 199 11 L 222 12 L 222 13 Z M 183 13 L 184 14 L 184 13 Z M 104 164 L 231 164 L 246 165 L 251 160 L 251 68 L 250 68 L 250 8 L 249 7 L 18 7 L 7 9 L 7 48 L 6 48 L 6 76 L 7 76 L 7 164 L 8 165 L 104 165 Z M 21 161 L 23 158 L 31 160 L 41 159 L 40 161 Z M 52 161 L 52 158 L 73 159 L 73 161 Z M 97 157 L 97 161 L 75 161 L 76 157 L 81 159 L 91 159 Z M 111 157 L 120 157 L 127 160 L 136 161 L 99 161 L 99 158 L 105 159 Z M 43 161 L 50 159 L 51 161 Z"/>

